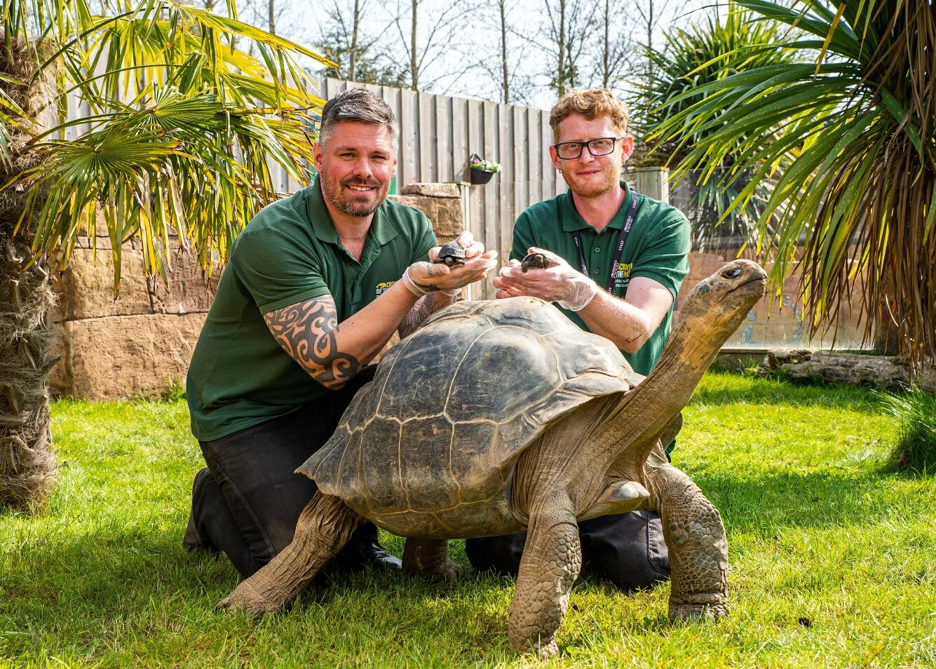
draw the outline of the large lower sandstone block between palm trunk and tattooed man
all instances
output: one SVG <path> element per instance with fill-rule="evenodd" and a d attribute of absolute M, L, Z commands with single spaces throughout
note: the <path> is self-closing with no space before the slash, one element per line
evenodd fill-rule
<path fill-rule="evenodd" d="M 159 397 L 183 384 L 204 313 L 154 313 L 69 321 L 51 379 L 59 394 L 86 400 Z"/>

